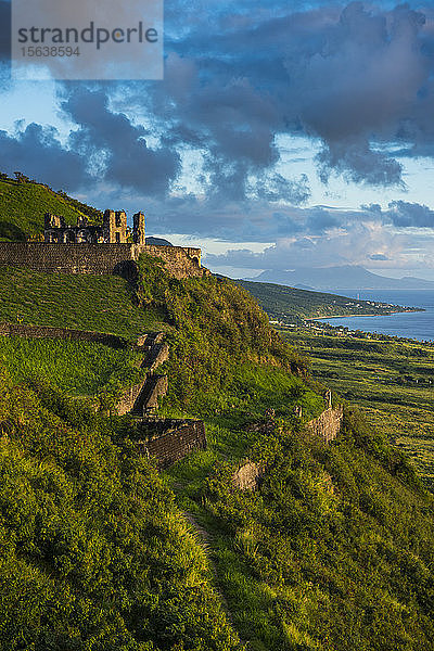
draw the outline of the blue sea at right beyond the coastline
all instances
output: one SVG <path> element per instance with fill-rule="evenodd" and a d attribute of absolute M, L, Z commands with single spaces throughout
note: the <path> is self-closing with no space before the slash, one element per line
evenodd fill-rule
<path fill-rule="evenodd" d="M 423 312 L 395 314 L 385 317 L 345 317 L 342 319 L 318 319 L 331 326 L 343 326 L 350 330 L 379 332 L 391 336 L 406 336 L 418 341 L 434 341 L 434 291 L 433 290 L 329 290 L 333 294 L 422 307 Z"/>

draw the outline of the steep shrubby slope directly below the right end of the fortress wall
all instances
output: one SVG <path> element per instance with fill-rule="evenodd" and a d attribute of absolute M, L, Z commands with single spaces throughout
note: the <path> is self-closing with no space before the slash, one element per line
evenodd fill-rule
<path fill-rule="evenodd" d="M 319 410 L 318 396 L 301 380 L 306 362 L 247 292 L 216 278 L 176 280 L 145 255 L 140 275 L 139 301 L 163 310 L 169 323 L 170 409 L 201 417 L 228 410 L 258 417 L 268 407 L 288 413 L 303 394 L 306 407 Z"/>

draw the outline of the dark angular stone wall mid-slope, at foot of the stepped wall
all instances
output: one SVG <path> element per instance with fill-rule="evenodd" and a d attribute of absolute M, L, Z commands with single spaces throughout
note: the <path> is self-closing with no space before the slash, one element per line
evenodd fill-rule
<path fill-rule="evenodd" d="M 149 425 L 152 425 L 155 437 L 138 442 L 138 450 L 146 457 L 156 457 L 159 468 L 168 468 L 193 450 L 206 449 L 203 421 L 161 419 L 158 423 L 155 419 Z"/>

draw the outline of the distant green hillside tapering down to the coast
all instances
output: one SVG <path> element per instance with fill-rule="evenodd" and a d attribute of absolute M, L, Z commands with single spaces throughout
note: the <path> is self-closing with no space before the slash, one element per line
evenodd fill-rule
<path fill-rule="evenodd" d="M 304 319 L 348 315 L 385 315 L 405 308 L 370 301 L 356 301 L 336 294 L 310 292 L 269 282 L 238 280 L 248 290 L 271 319 L 289 323 L 302 323 Z"/>

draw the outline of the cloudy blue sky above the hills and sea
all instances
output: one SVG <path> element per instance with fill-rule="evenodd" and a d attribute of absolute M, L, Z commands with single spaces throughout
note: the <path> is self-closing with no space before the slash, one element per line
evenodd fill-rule
<path fill-rule="evenodd" d="M 433 1 L 166 0 L 153 81 L 12 80 L 4 0 L 0 25 L 0 170 L 234 278 L 434 280 Z"/>

